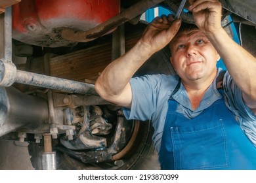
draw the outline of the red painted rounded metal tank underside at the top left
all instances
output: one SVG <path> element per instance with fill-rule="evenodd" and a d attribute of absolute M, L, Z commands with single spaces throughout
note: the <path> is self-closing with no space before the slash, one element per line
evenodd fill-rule
<path fill-rule="evenodd" d="M 65 27 L 87 31 L 119 13 L 119 0 L 22 0 L 12 7 L 12 37 L 39 46 L 66 46 Z"/>

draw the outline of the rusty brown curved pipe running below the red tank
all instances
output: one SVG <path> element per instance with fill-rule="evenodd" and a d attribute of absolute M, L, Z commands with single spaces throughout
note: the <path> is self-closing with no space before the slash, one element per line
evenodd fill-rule
<path fill-rule="evenodd" d="M 123 10 L 123 12 L 117 14 L 116 16 L 106 20 L 106 22 L 90 29 L 89 31 L 77 31 L 73 29 L 63 29 L 61 32 L 62 38 L 69 41 L 76 42 L 87 42 L 93 41 L 94 39 L 110 33 L 113 29 L 119 25 L 135 18 L 139 14 L 145 12 L 148 8 L 152 8 L 163 0 L 141 0 L 135 5 Z"/>

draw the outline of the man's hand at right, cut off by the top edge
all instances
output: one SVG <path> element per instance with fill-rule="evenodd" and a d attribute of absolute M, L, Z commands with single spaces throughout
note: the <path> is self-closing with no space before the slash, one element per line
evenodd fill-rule
<path fill-rule="evenodd" d="M 218 0 L 189 0 L 194 22 L 204 33 L 221 29 L 221 3 Z"/>

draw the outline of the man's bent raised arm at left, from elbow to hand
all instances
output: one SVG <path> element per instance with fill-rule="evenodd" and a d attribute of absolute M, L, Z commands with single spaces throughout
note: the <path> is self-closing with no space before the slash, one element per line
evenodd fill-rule
<path fill-rule="evenodd" d="M 173 39 L 181 25 L 181 20 L 173 20 L 171 15 L 155 18 L 137 44 L 104 69 L 95 83 L 95 90 L 103 99 L 123 107 L 131 107 L 129 80 L 152 54 Z"/>

